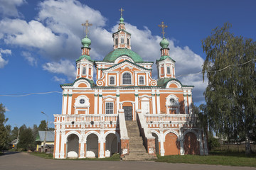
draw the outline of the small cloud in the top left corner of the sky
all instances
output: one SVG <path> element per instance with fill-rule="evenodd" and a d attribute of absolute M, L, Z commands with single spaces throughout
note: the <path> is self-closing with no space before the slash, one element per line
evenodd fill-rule
<path fill-rule="evenodd" d="M 2 16 L 22 16 L 18 12 L 17 6 L 21 6 L 26 3 L 25 0 L 0 0 L 0 14 Z"/>

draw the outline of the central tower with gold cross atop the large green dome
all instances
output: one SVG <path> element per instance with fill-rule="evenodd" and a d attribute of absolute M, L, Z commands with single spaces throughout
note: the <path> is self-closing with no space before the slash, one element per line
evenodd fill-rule
<path fill-rule="evenodd" d="M 116 33 L 113 33 L 112 38 L 114 42 L 114 50 L 117 48 L 127 48 L 131 50 L 131 34 L 125 30 L 124 18 L 122 18 L 123 8 L 119 9 L 121 11 L 121 18 L 119 19 L 119 26 Z"/>

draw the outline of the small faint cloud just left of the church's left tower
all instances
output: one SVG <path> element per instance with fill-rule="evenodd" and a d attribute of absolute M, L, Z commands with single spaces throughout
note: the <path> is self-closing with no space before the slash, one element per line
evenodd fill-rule
<path fill-rule="evenodd" d="M 75 80 L 76 69 L 73 62 L 60 60 L 60 62 L 48 62 L 43 64 L 43 69 L 56 74 L 64 74 L 69 81 Z"/>

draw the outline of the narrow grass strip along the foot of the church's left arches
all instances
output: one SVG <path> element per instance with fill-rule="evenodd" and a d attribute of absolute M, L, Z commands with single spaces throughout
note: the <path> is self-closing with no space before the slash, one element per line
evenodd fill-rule
<path fill-rule="evenodd" d="M 46 153 L 40 153 L 40 152 L 31 152 L 30 154 L 42 157 L 45 159 L 53 159 L 53 154 L 46 154 Z M 119 154 L 113 154 L 112 157 L 106 157 L 106 158 L 82 158 L 82 159 L 58 159 L 58 160 L 87 160 L 87 161 L 120 161 Z"/>

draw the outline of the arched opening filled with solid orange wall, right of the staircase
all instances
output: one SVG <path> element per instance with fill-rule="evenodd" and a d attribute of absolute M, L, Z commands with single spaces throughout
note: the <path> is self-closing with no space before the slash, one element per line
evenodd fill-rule
<path fill-rule="evenodd" d="M 179 142 L 177 139 L 178 137 L 172 132 L 166 134 L 164 142 L 164 155 L 174 155 L 179 153 Z"/>

